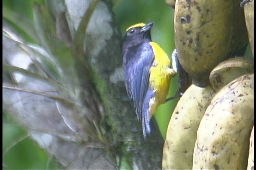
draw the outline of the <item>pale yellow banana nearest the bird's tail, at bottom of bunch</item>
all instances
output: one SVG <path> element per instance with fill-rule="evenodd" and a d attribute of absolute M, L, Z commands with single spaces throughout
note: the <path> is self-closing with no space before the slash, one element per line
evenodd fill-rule
<path fill-rule="evenodd" d="M 163 169 L 191 169 L 196 132 L 214 90 L 191 85 L 178 101 L 166 132 Z"/>

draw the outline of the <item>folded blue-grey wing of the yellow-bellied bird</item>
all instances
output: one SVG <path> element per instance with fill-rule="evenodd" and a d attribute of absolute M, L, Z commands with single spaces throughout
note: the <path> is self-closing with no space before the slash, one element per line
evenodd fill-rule
<path fill-rule="evenodd" d="M 129 54 L 134 57 L 128 68 L 129 75 L 124 76 L 129 77 L 126 81 L 128 96 L 133 100 L 138 119 L 142 120 L 142 106 L 149 87 L 150 67 L 154 60 L 154 52 L 149 43 L 143 43 L 136 48 L 133 50 L 134 53 Z"/>

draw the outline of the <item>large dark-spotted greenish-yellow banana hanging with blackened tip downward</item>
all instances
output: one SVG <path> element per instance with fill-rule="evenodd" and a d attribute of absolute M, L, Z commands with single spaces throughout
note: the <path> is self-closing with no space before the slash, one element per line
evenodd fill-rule
<path fill-rule="evenodd" d="M 225 58 L 245 47 L 241 0 L 176 0 L 175 45 L 181 66 L 199 87 L 209 85 L 209 74 Z"/>

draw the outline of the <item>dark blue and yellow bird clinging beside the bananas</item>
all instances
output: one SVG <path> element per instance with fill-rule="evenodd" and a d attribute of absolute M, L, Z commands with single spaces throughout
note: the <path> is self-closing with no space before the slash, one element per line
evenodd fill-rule
<path fill-rule="evenodd" d="M 150 134 L 150 119 L 165 102 L 171 78 L 177 74 L 164 50 L 151 41 L 152 27 L 153 22 L 134 24 L 122 40 L 124 83 L 142 122 L 144 138 Z"/>

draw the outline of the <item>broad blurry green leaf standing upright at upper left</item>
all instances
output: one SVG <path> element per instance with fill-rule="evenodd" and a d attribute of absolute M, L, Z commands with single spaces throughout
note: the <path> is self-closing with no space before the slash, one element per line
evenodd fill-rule
<path fill-rule="evenodd" d="M 52 60 L 58 64 L 58 69 L 62 73 L 62 81 L 69 84 L 78 84 L 76 74 L 74 73 L 74 58 L 71 50 L 64 42 L 55 37 L 55 24 L 46 7 L 34 4 L 34 23 L 37 34 L 41 40 L 41 45 L 45 47 Z M 48 63 L 49 64 L 49 63 Z M 45 65 L 47 66 L 47 64 Z M 75 75 L 73 77 L 65 75 Z"/>

